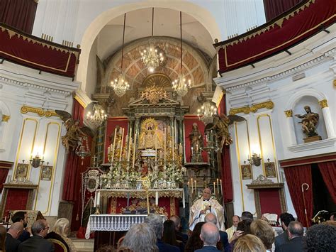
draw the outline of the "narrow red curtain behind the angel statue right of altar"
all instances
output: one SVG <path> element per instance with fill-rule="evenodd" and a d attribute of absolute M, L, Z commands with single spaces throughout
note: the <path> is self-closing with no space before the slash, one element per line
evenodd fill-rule
<path fill-rule="evenodd" d="M 218 106 L 218 114 L 226 114 L 225 94 Z M 223 200 L 225 203 L 233 201 L 233 182 L 230 163 L 230 146 L 224 146 L 222 150 L 222 180 L 223 180 Z"/>

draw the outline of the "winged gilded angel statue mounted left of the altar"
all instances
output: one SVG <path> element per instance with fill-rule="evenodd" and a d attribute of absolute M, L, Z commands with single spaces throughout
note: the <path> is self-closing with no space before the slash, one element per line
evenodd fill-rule
<path fill-rule="evenodd" d="M 94 136 L 94 133 L 89 127 L 79 126 L 79 121 L 72 118 L 72 115 L 67 111 L 55 110 L 56 114 L 59 115 L 62 121 L 65 122 L 65 128 L 67 133 L 62 136 L 62 145 L 65 146 L 67 151 L 76 150 L 77 146 L 82 143 L 82 138 L 85 136 Z"/>

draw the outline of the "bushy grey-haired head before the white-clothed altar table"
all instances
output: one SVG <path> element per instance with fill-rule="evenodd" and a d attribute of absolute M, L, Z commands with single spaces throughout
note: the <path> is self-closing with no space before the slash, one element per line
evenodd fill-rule
<path fill-rule="evenodd" d="M 121 248 L 128 248 L 131 251 L 157 252 L 157 236 L 154 230 L 147 223 L 134 224 L 125 235 Z"/>

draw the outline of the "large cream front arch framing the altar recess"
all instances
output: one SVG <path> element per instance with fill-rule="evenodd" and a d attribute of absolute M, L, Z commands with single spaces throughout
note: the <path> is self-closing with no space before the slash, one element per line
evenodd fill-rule
<path fill-rule="evenodd" d="M 80 57 L 79 67 L 77 70 L 77 80 L 82 82 L 81 89 L 85 91 L 86 89 L 86 75 L 87 75 L 87 66 L 89 63 L 89 54 L 91 50 L 91 46 L 96 39 L 96 36 L 99 34 L 103 26 L 111 21 L 113 18 L 121 16 L 127 11 L 135 11 L 138 9 L 145 8 L 167 8 L 174 9 L 176 11 L 182 11 L 184 13 L 193 16 L 197 21 L 199 21 L 204 28 L 210 33 L 211 38 L 214 40 L 218 38 L 221 40 L 221 33 L 218 23 L 215 21 L 213 15 L 206 9 L 197 4 L 191 3 L 189 1 L 180 1 L 177 5 L 174 6 L 171 1 L 141 1 L 133 4 L 124 4 L 121 6 L 116 6 L 112 9 L 109 9 L 94 19 L 90 23 L 90 25 L 84 31 L 84 35 L 82 37 L 82 53 Z"/>

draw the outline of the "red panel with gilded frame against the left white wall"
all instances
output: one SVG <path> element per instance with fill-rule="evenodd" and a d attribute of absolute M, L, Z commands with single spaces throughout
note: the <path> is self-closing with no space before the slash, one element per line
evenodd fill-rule
<path fill-rule="evenodd" d="M 4 184 L 0 209 L 1 218 L 6 216 L 11 210 L 32 210 L 35 190 L 37 188 L 38 185 L 23 182 Z"/>

